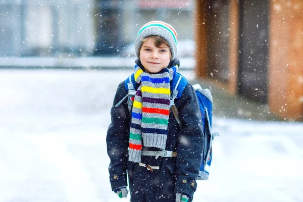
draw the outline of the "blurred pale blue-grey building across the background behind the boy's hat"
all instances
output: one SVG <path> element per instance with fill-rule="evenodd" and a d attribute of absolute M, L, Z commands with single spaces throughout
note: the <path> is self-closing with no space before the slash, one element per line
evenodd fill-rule
<path fill-rule="evenodd" d="M 119 55 L 150 20 L 193 38 L 193 0 L 2 0 L 0 57 Z"/>

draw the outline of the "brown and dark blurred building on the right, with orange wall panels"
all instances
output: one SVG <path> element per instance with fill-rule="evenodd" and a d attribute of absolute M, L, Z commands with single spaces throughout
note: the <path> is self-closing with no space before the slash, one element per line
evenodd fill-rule
<path fill-rule="evenodd" d="M 303 1 L 196 3 L 197 75 L 303 120 Z"/>

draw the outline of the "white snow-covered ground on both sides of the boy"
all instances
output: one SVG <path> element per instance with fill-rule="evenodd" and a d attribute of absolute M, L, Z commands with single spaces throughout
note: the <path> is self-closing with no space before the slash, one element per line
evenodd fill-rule
<path fill-rule="evenodd" d="M 129 73 L 0 70 L 0 201 L 129 201 L 111 191 L 105 141 Z M 210 179 L 193 201 L 303 201 L 302 123 L 213 124 Z"/>

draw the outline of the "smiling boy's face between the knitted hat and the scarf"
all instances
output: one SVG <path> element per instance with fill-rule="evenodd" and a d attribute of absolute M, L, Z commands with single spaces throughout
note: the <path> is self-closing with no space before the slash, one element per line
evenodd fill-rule
<path fill-rule="evenodd" d="M 156 47 L 154 43 L 153 38 L 147 38 L 139 52 L 140 61 L 148 73 L 158 73 L 170 62 L 170 48 L 167 45 Z"/>

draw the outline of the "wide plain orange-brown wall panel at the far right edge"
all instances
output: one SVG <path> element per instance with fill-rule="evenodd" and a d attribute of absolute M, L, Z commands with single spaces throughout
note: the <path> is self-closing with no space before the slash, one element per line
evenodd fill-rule
<path fill-rule="evenodd" d="M 270 111 L 303 120 L 303 2 L 271 1 L 270 10 Z"/>

